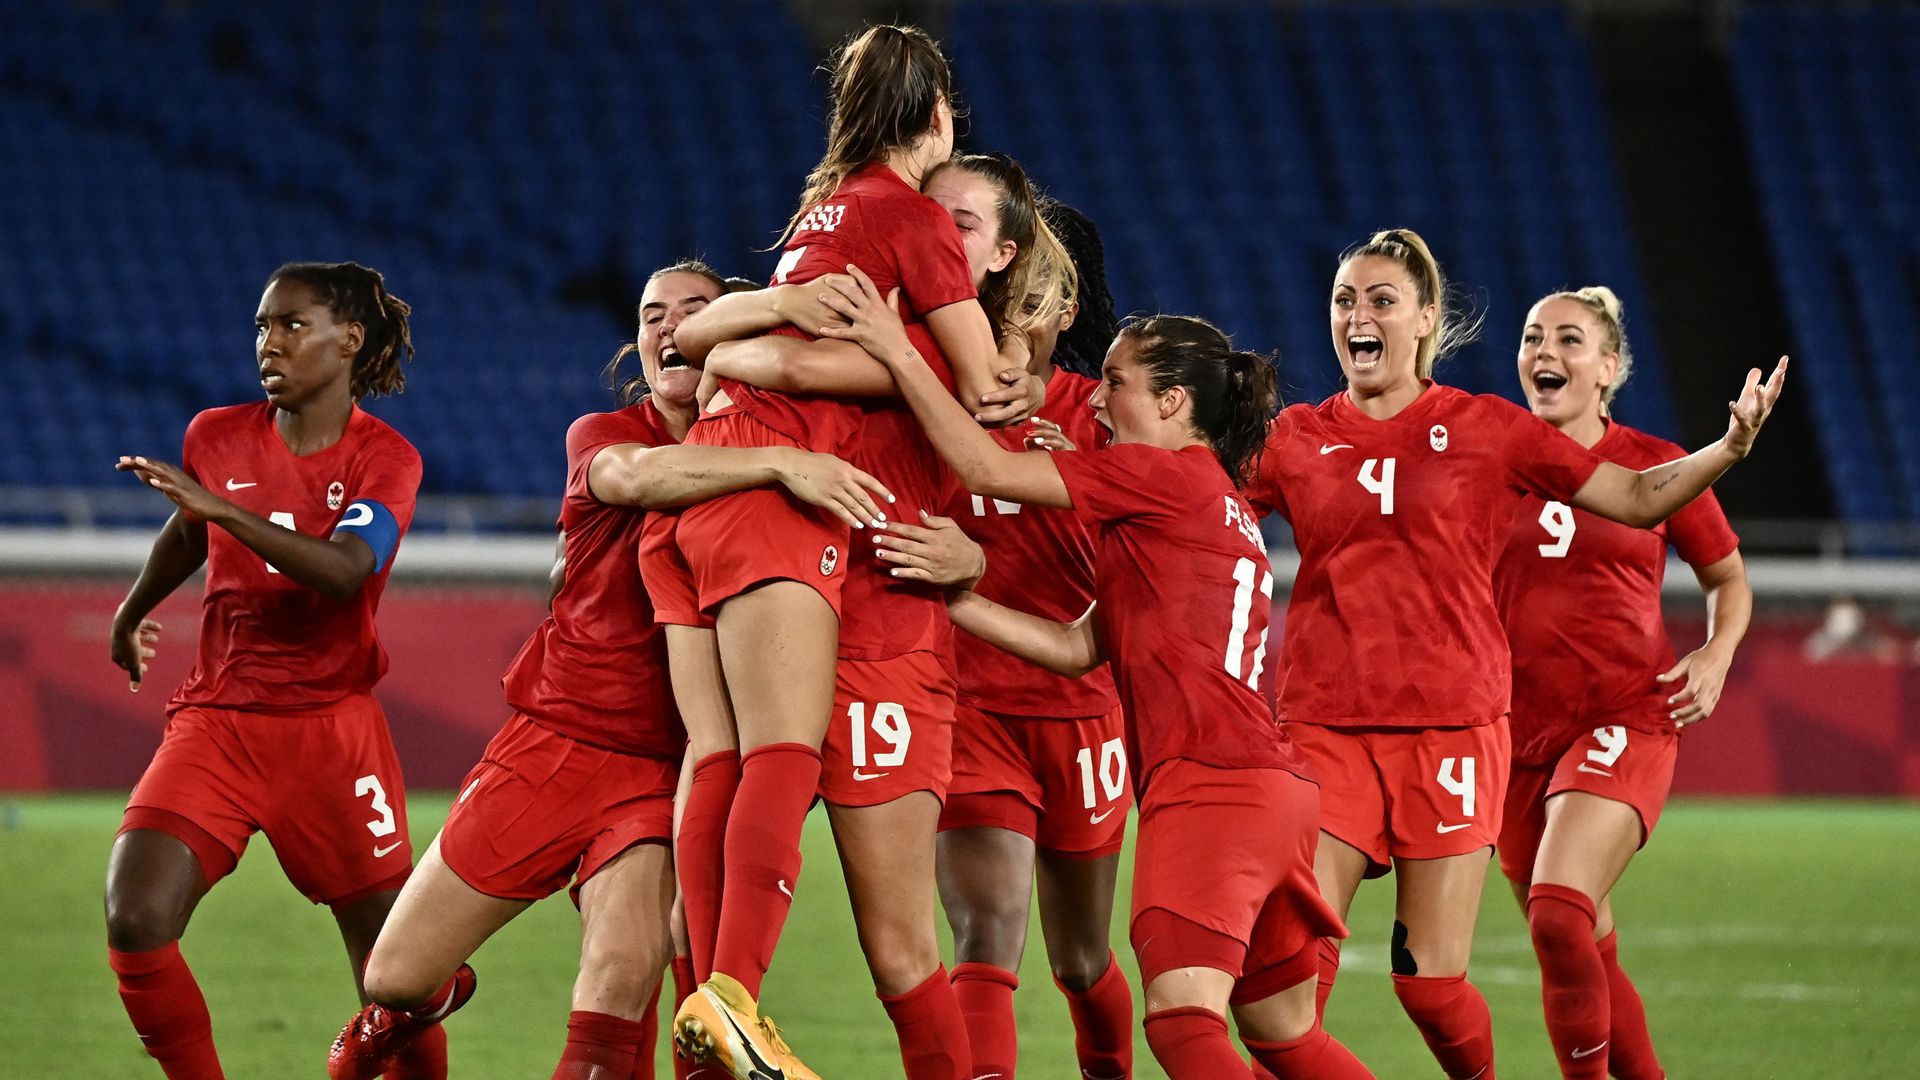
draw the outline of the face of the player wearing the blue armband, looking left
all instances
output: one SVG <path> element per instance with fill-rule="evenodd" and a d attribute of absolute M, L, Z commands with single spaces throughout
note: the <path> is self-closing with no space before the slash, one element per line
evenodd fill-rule
<path fill-rule="evenodd" d="M 298 281 L 275 281 L 253 313 L 259 388 L 275 407 L 290 413 L 328 394 L 346 396 L 353 384 L 353 356 L 363 340 L 365 329 L 336 321 L 313 288 Z"/>

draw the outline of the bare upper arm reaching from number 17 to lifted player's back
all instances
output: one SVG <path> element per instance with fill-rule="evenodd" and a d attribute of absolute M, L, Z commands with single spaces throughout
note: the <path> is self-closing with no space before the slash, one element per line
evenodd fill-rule
<path fill-rule="evenodd" d="M 947 394 L 920 350 L 906 340 L 897 311 L 899 292 L 881 298 L 874 281 L 858 267 L 847 267 L 852 286 L 839 286 L 828 302 L 847 319 L 847 329 L 828 327 L 831 338 L 860 342 L 874 359 L 893 371 L 900 398 L 914 409 L 927 440 L 960 477 L 966 490 L 1031 505 L 1071 507 L 1068 484 L 1046 454 L 1014 454 L 987 434 L 977 415 Z"/>

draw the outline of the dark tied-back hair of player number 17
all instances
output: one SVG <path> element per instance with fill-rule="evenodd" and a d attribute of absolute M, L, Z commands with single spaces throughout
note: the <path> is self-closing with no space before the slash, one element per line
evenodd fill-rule
<path fill-rule="evenodd" d="M 1146 369 L 1154 394 L 1187 388 L 1194 434 L 1213 448 L 1235 486 L 1246 484 L 1281 404 L 1277 361 L 1235 350 L 1219 327 L 1194 315 L 1133 319 L 1119 336 L 1135 342 L 1133 359 Z"/>

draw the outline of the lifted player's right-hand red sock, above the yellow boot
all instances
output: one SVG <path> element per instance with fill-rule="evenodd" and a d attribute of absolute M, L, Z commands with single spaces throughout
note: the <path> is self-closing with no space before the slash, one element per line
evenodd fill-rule
<path fill-rule="evenodd" d="M 801 876 L 801 826 L 818 790 L 820 751 L 810 746 L 776 742 L 739 759 L 739 794 L 726 819 L 726 896 L 714 970 L 732 974 L 755 997 L 787 926 Z M 680 828 L 685 834 L 685 819 Z"/>

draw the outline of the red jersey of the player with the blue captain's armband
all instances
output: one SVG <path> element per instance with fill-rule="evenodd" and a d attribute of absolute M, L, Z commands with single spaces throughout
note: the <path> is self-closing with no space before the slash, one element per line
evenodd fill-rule
<path fill-rule="evenodd" d="M 420 452 L 359 405 L 340 442 L 294 455 L 269 402 L 207 409 L 186 425 L 180 467 L 200 486 L 275 525 L 332 536 L 361 519 L 392 521 L 392 544 L 413 523 Z M 390 515 L 390 517 L 388 517 Z M 367 694 L 386 675 L 374 611 L 394 569 L 374 542 L 374 573 L 332 600 L 267 565 L 225 528 L 207 528 L 207 592 L 200 653 L 169 713 L 182 705 L 300 711 Z"/>

